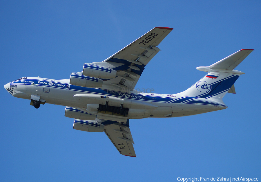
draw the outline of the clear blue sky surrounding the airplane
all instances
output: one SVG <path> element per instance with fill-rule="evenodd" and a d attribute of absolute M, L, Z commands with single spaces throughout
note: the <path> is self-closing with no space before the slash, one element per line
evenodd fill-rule
<path fill-rule="evenodd" d="M 177 177 L 258 177 L 260 1 L 1 1 L 0 181 L 177 181 Z M 3 86 L 20 77 L 66 79 L 153 27 L 173 31 L 136 88 L 174 94 L 240 49 L 229 107 L 181 118 L 130 121 L 137 158 L 120 155 L 105 133 L 73 129 L 64 106 L 30 106 Z"/>

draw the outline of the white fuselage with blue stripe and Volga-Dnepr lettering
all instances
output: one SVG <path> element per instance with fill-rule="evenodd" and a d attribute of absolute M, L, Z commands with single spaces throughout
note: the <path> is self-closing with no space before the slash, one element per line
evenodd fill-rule
<path fill-rule="evenodd" d="M 5 88 L 14 97 L 23 99 L 39 97 L 41 103 L 70 106 L 87 111 L 88 105 L 91 104 L 105 105 L 107 102 L 108 105 L 115 107 L 123 104 L 123 107 L 129 109 L 128 119 L 189 116 L 227 108 L 222 100 L 213 98 L 204 99 L 179 94 L 125 93 L 75 86 L 68 82 L 68 80 L 26 77 L 6 84 Z M 95 114 L 95 111 L 92 114 Z"/>

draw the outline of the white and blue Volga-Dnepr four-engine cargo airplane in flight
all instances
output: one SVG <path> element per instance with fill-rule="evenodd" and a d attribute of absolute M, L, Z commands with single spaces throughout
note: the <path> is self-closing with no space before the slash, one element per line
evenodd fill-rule
<path fill-rule="evenodd" d="M 136 157 L 130 119 L 171 118 L 226 109 L 224 95 L 235 93 L 234 82 L 244 74 L 234 70 L 253 49 L 241 49 L 197 70 L 207 74 L 177 94 L 135 90 L 145 66 L 160 51 L 157 47 L 173 28 L 155 27 L 102 62 L 85 63 L 70 79 L 22 77 L 4 88 L 14 97 L 29 99 L 39 108 L 63 105 L 73 128 L 104 132 L 120 154 Z"/>

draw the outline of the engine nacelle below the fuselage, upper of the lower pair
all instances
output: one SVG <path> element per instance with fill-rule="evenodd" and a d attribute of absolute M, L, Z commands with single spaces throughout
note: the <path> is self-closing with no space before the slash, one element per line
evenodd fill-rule
<path fill-rule="evenodd" d="M 87 112 L 80 111 L 74 107 L 66 107 L 64 116 L 68 118 L 82 119 L 82 120 L 92 120 L 96 118 L 96 115 Z"/>

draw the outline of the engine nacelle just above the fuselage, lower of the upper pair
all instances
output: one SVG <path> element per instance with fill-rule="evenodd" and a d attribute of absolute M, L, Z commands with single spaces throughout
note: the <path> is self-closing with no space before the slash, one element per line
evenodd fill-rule
<path fill-rule="evenodd" d="M 71 73 L 70 84 L 81 87 L 102 87 L 103 80 L 84 76 L 79 73 Z"/>

